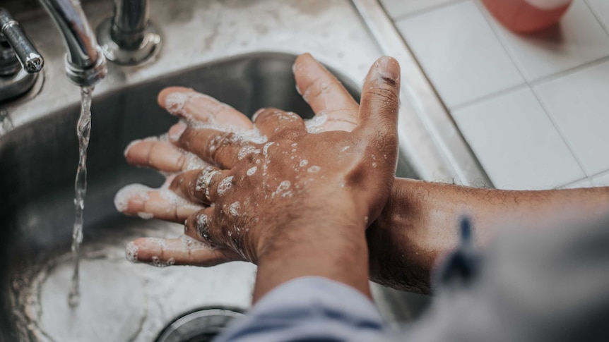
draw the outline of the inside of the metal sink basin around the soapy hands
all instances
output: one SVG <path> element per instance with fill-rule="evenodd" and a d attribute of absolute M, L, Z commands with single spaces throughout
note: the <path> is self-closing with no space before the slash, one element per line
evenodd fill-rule
<path fill-rule="evenodd" d="M 126 184 L 163 181 L 123 157 L 131 140 L 160 135 L 177 121 L 156 104 L 163 87 L 193 87 L 247 115 L 275 106 L 310 118 L 311 109 L 295 90 L 294 59 L 292 54 L 245 54 L 94 97 L 81 305 L 75 309 L 67 296 L 79 107 L 68 106 L 1 136 L 0 340 L 154 341 L 187 312 L 246 310 L 256 271 L 252 264 L 194 269 L 127 262 L 129 240 L 179 236 L 182 226 L 123 216 L 113 198 Z M 335 75 L 359 97 L 350 80 Z M 407 164 L 400 165 L 398 173 L 406 175 Z"/>

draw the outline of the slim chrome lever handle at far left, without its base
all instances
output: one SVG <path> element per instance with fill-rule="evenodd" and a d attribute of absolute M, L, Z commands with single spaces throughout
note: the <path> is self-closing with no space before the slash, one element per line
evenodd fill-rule
<path fill-rule="evenodd" d="M 11 17 L 8 11 L 0 8 L 0 44 L 4 42 L 11 45 L 25 71 L 37 73 L 42 70 L 45 60 L 42 59 L 34 44 L 25 35 L 21 25 Z M 0 59 L 4 58 L 4 55 L 0 56 Z"/>

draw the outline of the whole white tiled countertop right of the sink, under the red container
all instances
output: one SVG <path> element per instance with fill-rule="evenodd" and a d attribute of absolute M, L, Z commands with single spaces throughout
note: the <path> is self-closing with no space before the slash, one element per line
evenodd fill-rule
<path fill-rule="evenodd" d="M 609 1 L 516 35 L 480 0 L 379 0 L 496 188 L 609 185 Z"/>

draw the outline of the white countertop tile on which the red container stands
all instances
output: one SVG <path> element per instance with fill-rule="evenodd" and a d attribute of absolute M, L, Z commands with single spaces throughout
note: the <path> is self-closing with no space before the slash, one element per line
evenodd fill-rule
<path fill-rule="evenodd" d="M 478 7 L 528 82 L 609 56 L 609 36 L 584 0 L 574 0 L 560 25 L 533 35 L 517 35 L 507 30 L 492 19 L 485 6 Z"/>

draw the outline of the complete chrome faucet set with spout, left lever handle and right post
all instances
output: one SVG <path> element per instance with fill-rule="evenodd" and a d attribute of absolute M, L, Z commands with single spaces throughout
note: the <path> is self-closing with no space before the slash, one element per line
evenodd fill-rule
<path fill-rule="evenodd" d="M 78 0 L 40 0 L 66 47 L 66 74 L 81 87 L 106 75 L 106 58 L 119 64 L 147 61 L 160 50 L 149 0 L 114 0 L 114 15 L 98 28 L 100 45 Z M 44 64 L 20 25 L 0 8 L 0 102 L 28 92 Z"/>

